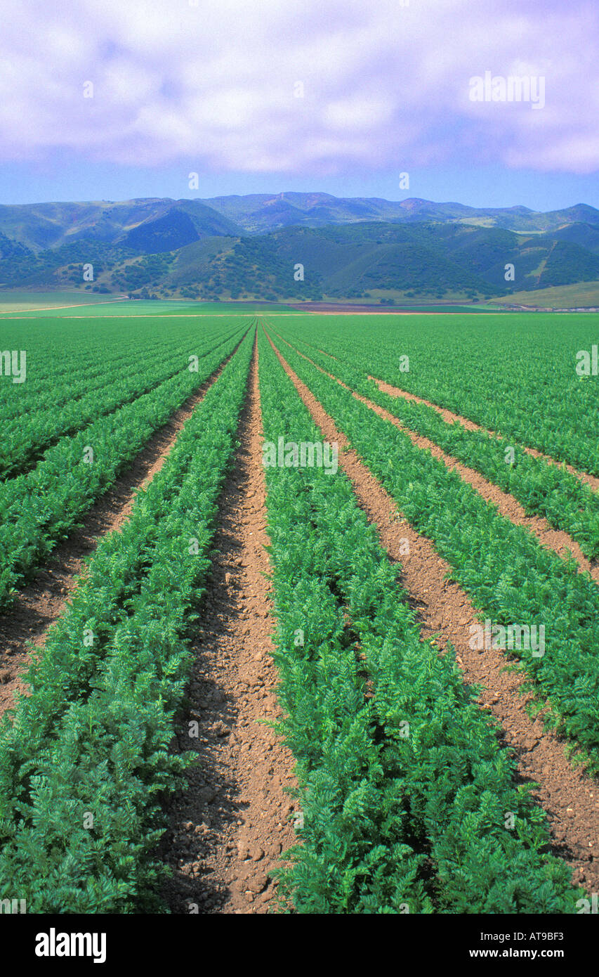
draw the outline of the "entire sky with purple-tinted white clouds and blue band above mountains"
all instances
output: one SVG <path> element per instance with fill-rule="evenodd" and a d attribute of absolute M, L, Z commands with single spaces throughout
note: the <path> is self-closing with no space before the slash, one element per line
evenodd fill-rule
<path fill-rule="evenodd" d="M 598 54 L 595 0 L 4 0 L 0 203 L 599 207 Z"/>

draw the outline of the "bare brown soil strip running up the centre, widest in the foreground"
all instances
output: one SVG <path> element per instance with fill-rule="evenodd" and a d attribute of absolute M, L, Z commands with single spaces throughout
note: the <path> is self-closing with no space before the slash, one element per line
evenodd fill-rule
<path fill-rule="evenodd" d="M 267 913 L 273 871 L 296 842 L 294 759 L 265 725 L 280 718 L 265 531 L 258 351 L 240 419 L 241 443 L 220 499 L 217 554 L 202 603 L 179 749 L 197 752 L 188 788 L 171 804 L 161 853 L 173 913 Z M 197 739 L 188 721 L 197 721 Z"/>

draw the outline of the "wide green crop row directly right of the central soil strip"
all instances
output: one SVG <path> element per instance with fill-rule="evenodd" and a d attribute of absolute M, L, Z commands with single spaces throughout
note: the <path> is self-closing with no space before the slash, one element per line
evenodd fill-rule
<path fill-rule="evenodd" d="M 265 441 L 322 442 L 261 334 L 259 350 Z M 281 732 L 303 812 L 283 895 L 300 913 L 576 912 L 544 813 L 454 656 L 419 640 L 348 480 L 265 474 Z"/>

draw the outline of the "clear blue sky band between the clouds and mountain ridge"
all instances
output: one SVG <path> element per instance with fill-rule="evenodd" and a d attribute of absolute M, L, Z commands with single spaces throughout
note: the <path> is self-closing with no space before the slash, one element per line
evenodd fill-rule
<path fill-rule="evenodd" d="M 187 168 L 180 164 L 161 167 L 114 166 L 70 160 L 62 154 L 60 166 L 51 162 L 5 163 L 1 168 L 1 203 L 39 203 L 58 200 L 126 200 L 131 197 L 212 197 L 228 193 L 279 193 L 322 191 L 337 196 L 380 196 L 404 200 L 448 200 L 473 207 L 509 207 L 523 204 L 533 210 L 558 210 L 575 203 L 599 209 L 596 174 L 541 173 L 510 170 L 500 166 L 422 167 L 413 171 L 409 190 L 400 190 L 396 172 L 313 177 L 297 174 L 200 172 L 199 188 L 190 191 Z M 198 172 L 195 170 L 194 172 Z M 182 174 L 182 176 L 181 176 Z"/>

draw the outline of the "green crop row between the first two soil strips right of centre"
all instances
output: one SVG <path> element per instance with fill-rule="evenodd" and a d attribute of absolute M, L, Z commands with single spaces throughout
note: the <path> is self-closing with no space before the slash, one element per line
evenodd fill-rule
<path fill-rule="evenodd" d="M 494 624 L 544 628 L 540 649 L 513 648 L 550 710 L 545 722 L 599 770 L 599 591 L 574 561 L 543 548 L 459 475 L 288 347 L 285 358 L 335 418 L 411 525 Z M 540 634 L 540 630 L 537 631 Z"/>

